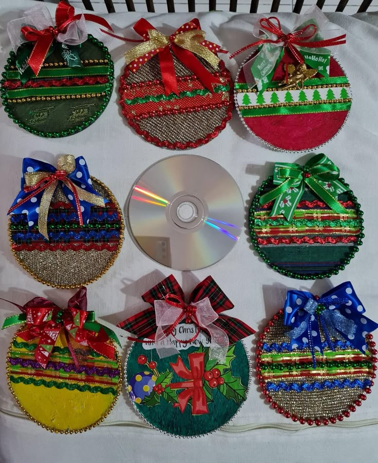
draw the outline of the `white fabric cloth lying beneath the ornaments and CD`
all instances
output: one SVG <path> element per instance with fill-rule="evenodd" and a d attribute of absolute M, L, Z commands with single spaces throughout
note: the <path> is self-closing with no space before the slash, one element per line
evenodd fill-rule
<path fill-rule="evenodd" d="M 2 0 L 0 7 L 0 62 L 3 67 L 10 50 L 6 33 L 8 21 L 21 17 L 24 9 L 35 5 L 31 0 Z M 46 5 L 46 3 L 45 3 Z M 47 4 L 50 11 L 55 6 Z M 193 14 L 144 14 L 166 34 L 190 20 Z M 234 51 L 252 41 L 252 24 L 256 15 L 232 13 L 200 13 L 202 29 L 209 40 Z M 378 15 L 356 17 L 341 13 L 328 15 L 347 32 L 347 46 L 338 47 L 337 59 L 347 72 L 353 91 L 353 104 L 346 127 L 326 147 L 325 152 L 341 169 L 365 211 L 364 245 L 344 272 L 331 280 L 300 282 L 280 276 L 265 265 L 253 252 L 245 230 L 232 252 L 210 268 L 198 272 L 172 272 L 190 292 L 195 284 L 211 274 L 235 304 L 233 315 L 260 329 L 282 306 L 290 288 L 323 293 L 330 287 L 351 280 L 364 302 L 367 315 L 378 320 L 376 278 L 378 270 L 376 216 L 378 215 L 376 176 L 378 161 L 377 103 L 378 86 Z M 105 15 L 116 33 L 133 37 L 131 27 L 140 13 Z M 282 23 L 294 24 L 294 14 L 280 14 Z M 33 280 L 13 259 L 7 236 L 7 210 L 18 192 L 23 157 L 55 164 L 59 155 L 72 153 L 84 156 L 93 176 L 114 192 L 122 208 L 130 187 L 149 165 L 165 157 L 180 154 L 163 150 L 145 142 L 131 130 L 122 117 L 118 101 L 118 81 L 124 67 L 124 51 L 130 46 L 105 36 L 88 23 L 88 29 L 109 47 L 115 62 L 116 85 L 104 114 L 92 126 L 72 137 L 48 140 L 20 129 L 0 111 L 0 297 L 24 304 L 40 295 L 64 306 L 74 291 L 56 290 Z M 238 62 L 244 59 L 241 56 Z M 226 65 L 235 76 L 238 64 Z M 195 150 L 193 155 L 208 157 L 226 168 L 237 181 L 246 208 L 256 185 L 270 175 L 275 161 L 304 162 L 309 156 L 275 152 L 254 139 L 243 127 L 236 112 L 226 129 L 212 142 Z M 246 209 L 247 210 L 247 209 Z M 144 307 L 140 295 L 171 273 L 170 269 L 145 257 L 126 233 L 122 252 L 114 266 L 99 281 L 89 285 L 89 308 L 104 323 L 114 327 Z M 0 304 L 0 323 L 13 315 L 14 307 Z M 363 407 L 358 408 L 341 427 L 310 428 L 295 426 L 290 420 L 274 413 L 261 399 L 253 378 L 247 402 L 225 431 L 198 439 L 175 439 L 143 427 L 126 394 L 118 400 L 115 410 L 101 426 L 85 434 L 65 436 L 49 434 L 20 414 L 5 378 L 5 357 L 13 334 L 12 329 L 0 332 L 0 462 L 55 463 L 82 460 L 97 461 L 274 461 L 307 462 L 317 459 L 329 462 L 355 463 L 378 461 L 374 450 L 378 437 L 378 391 L 373 388 Z M 126 334 L 116 329 L 123 336 Z M 251 350 L 254 338 L 247 339 Z M 126 349 L 123 349 L 123 358 Z M 357 420 L 357 421 L 356 421 Z M 360 426 L 354 428 L 354 426 Z M 363 426 L 363 427 L 362 427 Z M 253 428 L 259 428 L 254 429 Z M 351 429 L 353 428 L 353 429 Z M 293 431 L 297 432 L 293 432 Z M 318 452 L 322 452 L 322 457 Z M 324 456 L 323 456 L 324 455 Z"/>

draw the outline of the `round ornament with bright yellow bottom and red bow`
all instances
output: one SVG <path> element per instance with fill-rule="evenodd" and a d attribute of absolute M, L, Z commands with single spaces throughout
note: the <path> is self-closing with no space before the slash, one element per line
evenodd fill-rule
<path fill-rule="evenodd" d="M 10 302 L 10 301 L 7 301 Z M 87 311 L 86 288 L 60 308 L 35 297 L 6 318 L 23 323 L 7 356 L 9 389 L 21 410 L 43 428 L 87 431 L 104 420 L 121 392 L 121 361 L 114 332 Z"/>

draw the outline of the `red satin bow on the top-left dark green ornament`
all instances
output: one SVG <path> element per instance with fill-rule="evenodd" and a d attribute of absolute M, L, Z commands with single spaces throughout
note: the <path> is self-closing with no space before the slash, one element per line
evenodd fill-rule
<path fill-rule="evenodd" d="M 29 56 L 28 64 L 33 70 L 35 75 L 38 75 L 43 62 L 45 61 L 47 52 L 49 51 L 50 45 L 52 44 L 56 35 L 63 33 L 66 27 L 75 22 L 79 21 L 82 14 L 74 14 L 75 9 L 61 0 L 56 7 L 55 11 L 55 24 L 56 27 L 49 26 L 46 29 L 37 30 L 29 26 L 21 28 L 21 32 L 24 34 L 26 40 L 35 42 L 33 50 Z M 94 14 L 84 14 L 86 21 L 100 24 L 107 29 L 113 30 L 104 18 L 96 16 Z"/>

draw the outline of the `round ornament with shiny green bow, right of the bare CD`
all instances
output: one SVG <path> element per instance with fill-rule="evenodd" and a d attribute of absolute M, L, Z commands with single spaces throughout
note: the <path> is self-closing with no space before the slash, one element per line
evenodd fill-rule
<path fill-rule="evenodd" d="M 249 215 L 264 262 L 302 280 L 336 275 L 362 244 L 363 212 L 339 168 L 324 154 L 304 166 L 276 163 Z"/>

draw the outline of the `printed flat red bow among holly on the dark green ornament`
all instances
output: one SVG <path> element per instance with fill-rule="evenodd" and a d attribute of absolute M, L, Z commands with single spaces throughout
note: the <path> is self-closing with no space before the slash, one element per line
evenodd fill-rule
<path fill-rule="evenodd" d="M 185 410 L 188 401 L 192 398 L 192 415 L 203 415 L 209 413 L 207 409 L 206 394 L 203 390 L 203 374 L 205 372 L 205 354 L 203 352 L 195 352 L 188 354 L 190 370 L 186 368 L 181 357 L 178 357 L 176 363 L 171 363 L 173 371 L 186 379 L 183 382 L 174 382 L 169 384 L 171 389 L 183 389 L 177 396 L 178 403 L 174 403 L 174 407 L 179 407 L 181 413 Z"/>

